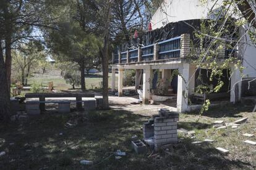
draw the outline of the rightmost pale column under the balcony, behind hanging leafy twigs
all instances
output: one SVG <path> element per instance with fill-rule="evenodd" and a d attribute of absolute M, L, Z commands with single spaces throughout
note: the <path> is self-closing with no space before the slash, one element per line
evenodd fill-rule
<path fill-rule="evenodd" d="M 237 103 L 241 100 L 241 74 L 236 68 L 231 67 L 232 75 L 230 80 L 230 102 Z"/>

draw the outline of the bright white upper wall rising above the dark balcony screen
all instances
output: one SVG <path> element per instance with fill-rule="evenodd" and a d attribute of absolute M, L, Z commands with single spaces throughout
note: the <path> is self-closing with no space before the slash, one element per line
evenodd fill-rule
<path fill-rule="evenodd" d="M 220 7 L 221 3 L 222 0 L 218 1 L 215 7 Z M 170 22 L 207 18 L 212 6 L 212 1 L 205 6 L 200 0 L 165 0 L 151 19 L 152 28 L 155 30 Z"/>

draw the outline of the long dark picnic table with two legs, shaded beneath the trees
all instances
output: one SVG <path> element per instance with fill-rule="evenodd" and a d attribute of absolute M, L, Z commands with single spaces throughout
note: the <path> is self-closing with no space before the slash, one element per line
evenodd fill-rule
<path fill-rule="evenodd" d="M 75 97 L 75 102 L 77 103 L 77 110 L 82 110 L 82 97 L 95 97 L 93 93 L 27 93 L 25 94 L 26 99 L 38 98 L 40 110 L 45 111 L 45 103 L 60 103 L 65 102 L 61 100 L 54 100 L 54 101 L 45 101 L 45 98 L 68 98 L 68 97 Z M 69 101 L 70 102 L 70 101 Z"/>

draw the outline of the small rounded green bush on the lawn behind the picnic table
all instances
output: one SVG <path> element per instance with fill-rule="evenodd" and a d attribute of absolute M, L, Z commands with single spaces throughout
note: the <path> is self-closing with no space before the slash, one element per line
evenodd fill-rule
<path fill-rule="evenodd" d="M 75 89 L 75 86 L 79 86 L 81 84 L 81 75 L 79 71 L 68 70 L 64 75 L 64 79 L 72 86 L 73 89 Z"/>

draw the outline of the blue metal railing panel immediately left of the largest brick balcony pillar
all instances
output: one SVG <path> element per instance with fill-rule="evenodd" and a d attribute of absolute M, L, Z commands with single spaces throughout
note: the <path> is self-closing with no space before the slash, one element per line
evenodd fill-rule
<path fill-rule="evenodd" d="M 171 38 L 158 43 L 160 45 L 159 60 L 180 57 L 181 53 L 181 37 Z"/>

